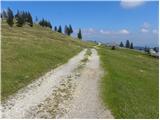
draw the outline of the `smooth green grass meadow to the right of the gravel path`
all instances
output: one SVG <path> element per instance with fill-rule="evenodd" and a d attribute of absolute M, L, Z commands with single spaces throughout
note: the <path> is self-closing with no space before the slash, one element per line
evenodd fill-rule
<path fill-rule="evenodd" d="M 115 118 L 158 118 L 158 59 L 128 49 L 98 49 L 102 99 Z"/>

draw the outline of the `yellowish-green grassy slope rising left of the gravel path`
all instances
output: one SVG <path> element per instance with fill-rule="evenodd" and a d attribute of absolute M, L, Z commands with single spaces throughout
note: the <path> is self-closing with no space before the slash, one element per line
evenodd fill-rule
<path fill-rule="evenodd" d="M 2 100 L 77 54 L 89 43 L 53 32 L 2 24 Z"/>

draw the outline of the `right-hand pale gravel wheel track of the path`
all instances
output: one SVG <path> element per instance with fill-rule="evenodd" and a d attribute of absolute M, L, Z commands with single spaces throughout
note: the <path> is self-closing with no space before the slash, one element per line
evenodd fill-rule
<path fill-rule="evenodd" d="M 68 113 L 61 118 L 113 118 L 110 111 L 104 108 L 100 100 L 99 80 L 102 74 L 99 56 L 97 51 L 92 49 L 92 55 L 78 78 Z"/>

